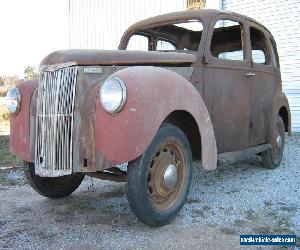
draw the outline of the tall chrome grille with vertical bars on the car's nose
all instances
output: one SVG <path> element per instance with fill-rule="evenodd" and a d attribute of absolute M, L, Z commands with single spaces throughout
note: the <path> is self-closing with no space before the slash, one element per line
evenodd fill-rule
<path fill-rule="evenodd" d="M 72 173 L 76 77 L 77 67 L 41 72 L 35 134 L 35 172 L 40 176 Z"/>

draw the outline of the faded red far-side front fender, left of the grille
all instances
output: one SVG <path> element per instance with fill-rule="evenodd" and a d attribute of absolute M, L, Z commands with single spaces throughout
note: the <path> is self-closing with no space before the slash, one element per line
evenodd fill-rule
<path fill-rule="evenodd" d="M 38 80 L 24 81 L 17 85 L 21 92 L 21 109 L 10 118 L 10 151 L 26 161 L 31 159 L 30 147 L 30 103 Z"/>

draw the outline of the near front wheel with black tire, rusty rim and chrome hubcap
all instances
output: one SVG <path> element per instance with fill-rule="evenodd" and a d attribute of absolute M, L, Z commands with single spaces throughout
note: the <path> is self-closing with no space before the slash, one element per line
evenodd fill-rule
<path fill-rule="evenodd" d="M 167 169 L 171 175 L 166 175 Z M 192 152 L 185 134 L 164 124 L 146 151 L 128 164 L 127 176 L 127 197 L 137 218 L 154 227 L 170 223 L 184 205 L 192 179 Z"/>

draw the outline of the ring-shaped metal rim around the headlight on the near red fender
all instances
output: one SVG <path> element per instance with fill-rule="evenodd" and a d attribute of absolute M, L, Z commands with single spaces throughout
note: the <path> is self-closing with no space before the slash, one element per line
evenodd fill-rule
<path fill-rule="evenodd" d="M 118 108 L 116 108 L 115 110 L 113 111 L 110 111 L 108 110 L 107 108 L 105 108 L 105 105 L 103 104 L 102 102 L 102 89 L 104 87 L 105 84 L 108 83 L 108 81 L 115 81 L 119 84 L 120 88 L 121 88 L 121 96 L 122 96 L 122 99 L 120 101 L 120 104 L 118 105 Z M 100 86 L 100 89 L 99 89 L 99 99 L 100 99 L 100 103 L 101 103 L 101 106 L 102 108 L 110 115 L 117 115 L 118 113 L 120 113 L 126 102 L 127 102 L 127 87 L 126 87 L 126 84 L 125 82 L 122 80 L 122 78 L 120 78 L 119 76 L 113 76 L 113 77 L 109 77 L 107 78 Z"/>

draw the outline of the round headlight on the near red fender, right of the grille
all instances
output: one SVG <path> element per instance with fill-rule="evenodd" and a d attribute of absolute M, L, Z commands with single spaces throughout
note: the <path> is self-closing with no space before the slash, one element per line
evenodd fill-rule
<path fill-rule="evenodd" d="M 100 88 L 100 102 L 110 114 L 122 110 L 126 103 L 127 92 L 123 80 L 119 77 L 107 79 Z"/>

